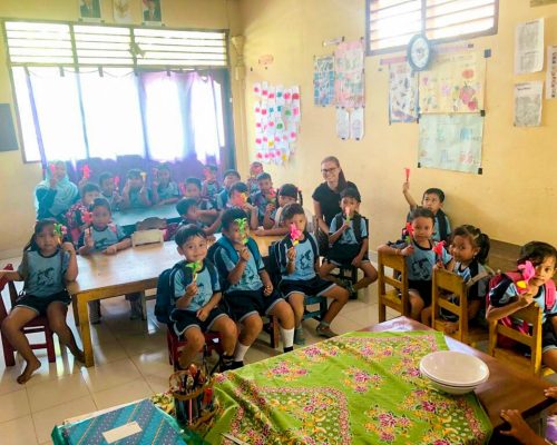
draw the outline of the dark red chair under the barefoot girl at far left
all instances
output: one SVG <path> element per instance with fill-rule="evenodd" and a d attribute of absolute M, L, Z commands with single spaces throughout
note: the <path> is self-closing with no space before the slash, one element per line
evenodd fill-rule
<path fill-rule="evenodd" d="M 13 266 L 11 264 L 6 265 L 4 269 L 7 270 L 13 270 Z M 16 305 L 16 300 L 18 298 L 18 291 L 16 290 L 16 286 L 13 285 L 12 281 L 8 281 L 6 277 L 2 277 L 0 279 L 0 324 L 4 320 L 4 318 L 8 316 L 9 308 L 4 306 L 3 298 L 1 296 L 1 291 L 4 289 L 6 285 L 8 285 L 8 289 L 10 293 L 10 304 L 11 307 Z M 52 332 L 50 330 L 50 327 L 48 326 L 48 319 L 46 316 L 39 316 L 35 317 L 31 322 L 29 322 L 23 328 L 21 329 L 23 334 L 37 334 L 37 333 L 45 333 L 45 342 L 43 343 L 33 343 L 31 344 L 31 349 L 47 349 L 47 355 L 48 355 L 48 360 L 50 363 L 56 362 L 56 350 L 55 350 L 55 340 L 52 338 Z M 14 366 L 16 365 L 16 358 L 14 358 L 14 353 L 16 349 L 10 345 L 7 338 L 4 338 L 3 334 L 1 335 L 2 337 L 2 349 L 3 349 L 3 359 L 6 363 L 6 366 Z"/>

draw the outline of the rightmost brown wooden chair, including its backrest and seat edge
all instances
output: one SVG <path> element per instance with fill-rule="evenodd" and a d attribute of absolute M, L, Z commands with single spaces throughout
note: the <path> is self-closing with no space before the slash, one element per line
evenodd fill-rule
<path fill-rule="evenodd" d="M 551 369 L 543 367 L 541 365 L 541 308 L 536 304 L 531 304 L 514 313 L 512 317 L 529 323 L 531 326 L 531 334 L 524 334 L 517 329 L 502 325 L 498 320 L 489 322 L 488 354 L 522 368 L 528 368 L 537 376 L 551 374 Z M 499 335 L 504 335 L 517 342 L 519 345 L 530 348 L 530 357 L 526 357 L 524 352 L 516 350 L 515 348 L 502 348 L 498 346 L 497 337 Z"/>

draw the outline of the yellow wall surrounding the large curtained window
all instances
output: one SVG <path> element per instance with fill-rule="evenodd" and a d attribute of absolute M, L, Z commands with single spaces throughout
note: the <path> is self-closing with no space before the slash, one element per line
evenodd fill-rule
<path fill-rule="evenodd" d="M 241 32 L 238 4 L 236 0 L 164 0 L 163 22 L 174 28 L 229 29 L 231 36 Z M 134 22 L 141 20 L 141 1 L 131 1 Z M 111 23 L 113 2 L 101 0 L 102 18 Z M 77 0 L 1 0 L 0 17 L 20 19 L 45 19 L 77 21 L 79 16 Z M 231 50 L 235 60 L 234 50 Z M 241 113 L 243 100 L 238 82 L 233 80 L 235 127 L 244 119 Z M 3 38 L 0 36 L 0 102 L 12 103 L 13 96 L 6 63 Z M 236 106 L 237 103 L 237 106 Z M 13 109 L 13 116 L 14 109 Z M 243 135 L 236 131 L 236 146 L 243 147 Z M 245 149 L 241 149 L 236 160 L 244 165 Z M 0 258 L 17 255 L 29 239 L 36 219 L 33 188 L 41 180 L 39 164 L 23 164 L 21 151 L 0 152 Z"/>

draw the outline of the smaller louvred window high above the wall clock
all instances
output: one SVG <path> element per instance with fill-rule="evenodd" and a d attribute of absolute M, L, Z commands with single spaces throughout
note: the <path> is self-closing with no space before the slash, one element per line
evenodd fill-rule
<path fill-rule="evenodd" d="M 498 0 L 367 0 L 368 55 L 404 49 L 419 32 L 449 41 L 497 32 Z"/>

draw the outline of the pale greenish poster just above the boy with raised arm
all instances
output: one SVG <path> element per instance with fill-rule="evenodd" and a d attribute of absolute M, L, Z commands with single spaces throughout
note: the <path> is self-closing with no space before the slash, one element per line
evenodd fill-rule
<path fill-rule="evenodd" d="M 481 168 L 483 117 L 424 115 L 420 117 L 420 167 L 478 174 Z"/>

